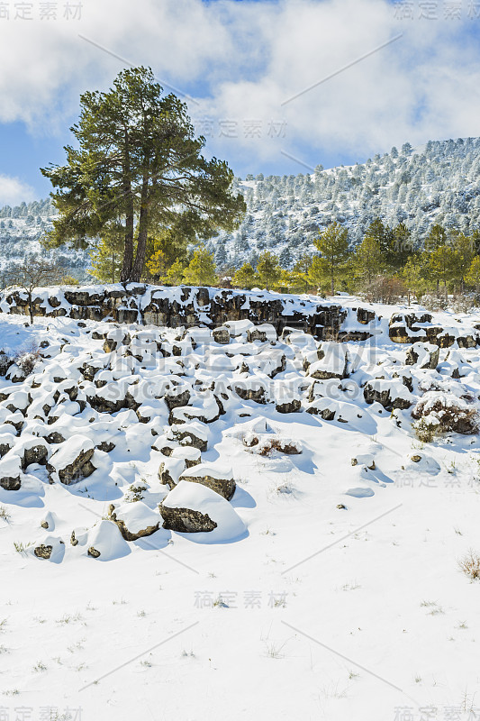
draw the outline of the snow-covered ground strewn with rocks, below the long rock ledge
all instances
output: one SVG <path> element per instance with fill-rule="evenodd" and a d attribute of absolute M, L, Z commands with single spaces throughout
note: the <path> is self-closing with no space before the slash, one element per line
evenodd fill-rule
<path fill-rule="evenodd" d="M 342 344 L 0 315 L 40 349 L 0 378 L 2 721 L 480 718 L 478 435 L 412 431 L 475 417 L 480 349 L 406 364 L 373 309 Z"/>

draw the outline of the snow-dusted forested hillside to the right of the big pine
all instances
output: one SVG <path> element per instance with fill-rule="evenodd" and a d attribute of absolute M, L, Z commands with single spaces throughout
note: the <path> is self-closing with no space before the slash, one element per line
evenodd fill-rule
<path fill-rule="evenodd" d="M 248 212 L 237 232 L 210 243 L 220 265 L 255 263 L 267 249 L 289 267 L 314 250 L 318 229 L 335 220 L 349 227 L 352 243 L 377 216 L 390 225 L 405 223 L 418 242 L 433 223 L 468 233 L 480 228 L 480 138 L 430 141 L 416 149 L 405 143 L 363 164 L 248 176 L 237 185 Z"/>

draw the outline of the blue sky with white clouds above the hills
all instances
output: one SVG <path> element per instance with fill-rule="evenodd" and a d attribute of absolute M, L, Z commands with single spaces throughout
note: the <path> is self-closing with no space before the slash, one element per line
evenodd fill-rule
<path fill-rule="evenodd" d="M 244 178 L 480 135 L 479 41 L 480 0 L 6 0 L 0 205 L 48 195 L 80 93 L 128 64 Z"/>

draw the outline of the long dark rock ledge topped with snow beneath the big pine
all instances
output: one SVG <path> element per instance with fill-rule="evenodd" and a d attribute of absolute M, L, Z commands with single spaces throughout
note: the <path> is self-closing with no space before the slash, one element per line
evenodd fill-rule
<path fill-rule="evenodd" d="M 285 325 L 292 326 L 319 340 L 341 338 L 340 326 L 348 315 L 340 305 L 267 291 L 139 284 L 39 288 L 32 294 L 32 306 L 34 315 L 168 327 L 205 324 L 213 328 L 225 321 L 249 319 L 255 324 L 273 324 L 277 333 Z M 15 290 L 7 294 L 0 310 L 28 315 L 27 293 Z M 375 314 L 362 309 L 359 322 L 366 324 L 372 316 Z"/>

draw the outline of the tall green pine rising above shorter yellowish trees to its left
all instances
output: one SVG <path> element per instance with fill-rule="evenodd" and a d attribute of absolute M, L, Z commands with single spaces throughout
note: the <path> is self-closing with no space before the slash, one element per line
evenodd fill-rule
<path fill-rule="evenodd" d="M 349 231 L 340 223 L 332 223 L 314 242 L 322 253 L 312 260 L 309 277 L 313 284 L 321 284 L 327 278 L 331 285 L 331 295 L 335 294 L 335 281 L 345 270 L 349 260 Z M 319 282 L 320 281 L 320 282 Z"/>

